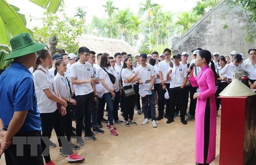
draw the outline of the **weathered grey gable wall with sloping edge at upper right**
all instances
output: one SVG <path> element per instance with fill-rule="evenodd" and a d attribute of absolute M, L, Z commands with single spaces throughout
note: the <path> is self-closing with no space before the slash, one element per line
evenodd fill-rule
<path fill-rule="evenodd" d="M 211 53 L 217 51 L 223 56 L 228 56 L 231 51 L 235 50 L 243 53 L 247 58 L 247 50 L 255 49 L 256 43 L 245 42 L 246 30 L 241 30 L 241 28 L 248 26 L 248 19 L 239 11 L 241 11 L 239 7 L 234 7 L 229 11 L 225 1 L 220 1 L 183 36 L 173 39 L 173 50 L 179 53 L 183 51 L 190 53 L 192 49 L 200 47 Z M 223 17 L 229 25 L 227 30 L 223 30 L 225 24 Z M 256 33 L 256 23 L 253 25 Z"/>

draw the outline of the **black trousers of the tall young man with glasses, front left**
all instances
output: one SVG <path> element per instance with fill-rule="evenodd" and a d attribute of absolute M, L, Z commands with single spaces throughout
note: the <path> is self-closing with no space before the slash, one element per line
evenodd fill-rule
<path fill-rule="evenodd" d="M 94 93 L 88 93 L 87 95 L 77 95 L 76 105 L 77 105 L 77 121 L 76 121 L 76 135 L 78 137 L 82 136 L 82 125 L 83 119 L 85 119 L 85 135 L 91 134 L 91 112 L 93 109 L 93 95 Z"/>

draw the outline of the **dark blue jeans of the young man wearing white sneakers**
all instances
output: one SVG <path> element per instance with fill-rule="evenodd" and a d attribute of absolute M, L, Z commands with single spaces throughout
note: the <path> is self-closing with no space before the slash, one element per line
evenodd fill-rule
<path fill-rule="evenodd" d="M 149 108 L 151 113 L 151 120 L 156 120 L 155 108 L 155 92 L 152 90 L 152 95 L 146 95 L 142 98 L 142 111 L 144 112 L 144 119 L 149 119 Z"/>

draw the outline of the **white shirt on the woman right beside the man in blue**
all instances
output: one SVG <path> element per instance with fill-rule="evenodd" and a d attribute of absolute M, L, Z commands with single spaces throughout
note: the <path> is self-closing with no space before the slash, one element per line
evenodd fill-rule
<path fill-rule="evenodd" d="M 38 68 L 44 71 L 36 70 L 33 73 L 38 110 L 40 114 L 55 112 L 57 110 L 57 103 L 47 98 L 43 91 L 45 89 L 49 89 L 52 94 L 56 93 L 52 84 L 53 79 L 48 69 L 41 65 L 39 65 Z"/>

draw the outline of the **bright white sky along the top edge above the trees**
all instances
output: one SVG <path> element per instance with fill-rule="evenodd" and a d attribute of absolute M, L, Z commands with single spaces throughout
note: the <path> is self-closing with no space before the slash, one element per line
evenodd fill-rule
<path fill-rule="evenodd" d="M 119 9 L 126 9 L 127 7 L 133 13 L 137 13 L 140 8 L 140 3 L 145 3 L 146 0 L 112 0 L 113 5 Z M 152 0 L 152 3 L 157 3 L 162 6 L 163 11 L 171 11 L 178 13 L 182 11 L 190 11 L 192 7 L 196 5 L 198 0 Z M 30 22 L 30 15 L 36 19 L 40 19 L 43 16 L 45 9 L 30 2 L 29 0 L 7 0 L 11 5 L 20 8 L 20 13 L 25 14 L 27 19 L 27 27 L 31 28 L 38 25 L 38 21 Z M 83 7 L 87 12 L 86 21 L 90 22 L 93 16 L 99 18 L 107 18 L 107 14 L 104 12 L 104 7 L 107 0 L 64 0 L 67 16 L 74 16 L 76 14 L 77 7 Z"/>

